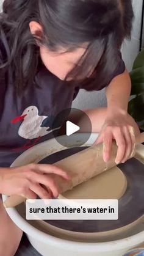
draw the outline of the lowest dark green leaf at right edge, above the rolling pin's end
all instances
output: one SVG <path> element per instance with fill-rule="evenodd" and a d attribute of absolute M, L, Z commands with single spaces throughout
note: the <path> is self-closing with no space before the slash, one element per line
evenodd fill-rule
<path fill-rule="evenodd" d="M 144 121 L 144 93 L 129 101 L 128 112 L 135 121 Z"/>

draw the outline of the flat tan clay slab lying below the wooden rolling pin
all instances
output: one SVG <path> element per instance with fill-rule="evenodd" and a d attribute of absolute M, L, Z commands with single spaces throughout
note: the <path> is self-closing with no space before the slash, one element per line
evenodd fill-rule
<path fill-rule="evenodd" d="M 127 188 L 126 177 L 118 167 L 99 174 L 64 192 L 59 198 L 67 199 L 120 199 Z"/>

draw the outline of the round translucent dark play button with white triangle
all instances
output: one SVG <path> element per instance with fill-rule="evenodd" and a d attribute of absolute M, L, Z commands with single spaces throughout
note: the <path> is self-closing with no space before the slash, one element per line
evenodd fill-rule
<path fill-rule="evenodd" d="M 75 108 L 63 109 L 52 122 L 52 133 L 56 141 L 64 147 L 81 146 L 92 133 L 92 123 L 84 111 Z"/>

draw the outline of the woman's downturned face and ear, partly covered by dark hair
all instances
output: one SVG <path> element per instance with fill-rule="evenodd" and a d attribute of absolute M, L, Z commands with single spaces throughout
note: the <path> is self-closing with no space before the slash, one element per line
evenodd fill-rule
<path fill-rule="evenodd" d="M 40 38 L 40 34 L 43 33 L 42 27 L 40 26 L 39 23 L 36 21 L 31 21 L 29 24 L 31 34 L 34 35 L 37 38 Z M 45 65 L 45 67 L 54 75 L 56 75 L 58 78 L 61 80 L 65 80 L 67 77 L 68 73 L 73 70 L 73 68 L 77 65 L 81 57 L 84 55 L 86 48 L 87 48 L 87 43 L 82 45 L 81 47 L 74 49 L 71 52 L 67 52 L 67 49 L 60 49 L 57 52 L 50 51 L 47 47 L 45 46 L 40 46 L 40 57 Z M 88 67 L 88 75 L 90 76 L 91 73 L 90 67 Z M 69 80 L 73 78 L 68 78 Z M 76 79 L 82 79 L 81 76 Z"/>

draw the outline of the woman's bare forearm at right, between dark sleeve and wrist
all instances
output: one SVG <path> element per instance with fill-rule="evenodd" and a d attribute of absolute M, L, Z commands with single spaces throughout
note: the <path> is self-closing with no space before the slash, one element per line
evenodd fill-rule
<path fill-rule="evenodd" d="M 131 79 L 127 70 L 113 78 L 106 89 L 108 113 L 128 112 L 128 102 L 131 94 Z"/>

